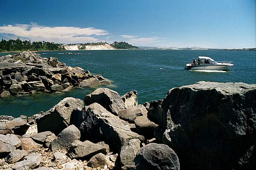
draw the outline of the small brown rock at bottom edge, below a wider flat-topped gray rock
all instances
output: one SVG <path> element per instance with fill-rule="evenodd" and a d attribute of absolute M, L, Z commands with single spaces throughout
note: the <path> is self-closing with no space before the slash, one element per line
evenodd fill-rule
<path fill-rule="evenodd" d="M 103 168 L 105 165 L 109 165 L 110 162 L 103 153 L 98 153 L 88 161 L 88 166 L 92 168 L 100 167 Z"/>

